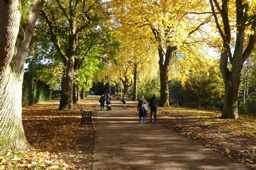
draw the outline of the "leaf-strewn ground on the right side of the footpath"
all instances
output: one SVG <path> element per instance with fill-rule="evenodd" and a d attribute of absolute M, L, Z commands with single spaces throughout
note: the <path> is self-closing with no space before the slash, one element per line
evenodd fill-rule
<path fill-rule="evenodd" d="M 221 113 L 192 108 L 159 108 L 158 123 L 182 136 L 256 168 L 256 117 L 239 115 L 239 119 L 220 119 Z"/>

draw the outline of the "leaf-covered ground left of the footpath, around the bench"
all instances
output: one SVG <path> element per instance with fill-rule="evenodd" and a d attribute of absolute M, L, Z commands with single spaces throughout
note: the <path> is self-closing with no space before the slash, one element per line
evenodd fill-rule
<path fill-rule="evenodd" d="M 0 156 L 0 168 L 91 169 L 95 126 L 80 125 L 79 109 L 93 111 L 96 104 L 82 100 L 71 111 L 58 110 L 59 101 L 23 108 L 23 127 L 32 149 L 6 152 Z"/>

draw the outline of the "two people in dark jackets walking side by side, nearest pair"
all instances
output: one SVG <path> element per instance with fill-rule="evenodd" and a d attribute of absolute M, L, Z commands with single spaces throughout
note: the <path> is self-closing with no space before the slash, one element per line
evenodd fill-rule
<path fill-rule="evenodd" d="M 140 96 L 137 110 L 139 111 L 139 123 L 143 122 L 146 123 L 146 116 L 147 110 L 150 108 L 150 122 L 152 122 L 152 116 L 154 114 L 154 123 L 157 122 L 157 106 L 158 106 L 158 99 L 155 94 L 150 99 L 149 106 L 147 105 L 147 101 L 145 100 L 144 96 Z"/>

